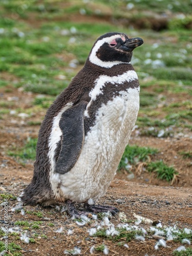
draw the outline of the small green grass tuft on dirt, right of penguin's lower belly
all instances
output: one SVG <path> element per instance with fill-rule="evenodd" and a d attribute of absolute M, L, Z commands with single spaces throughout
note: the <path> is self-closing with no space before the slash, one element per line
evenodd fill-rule
<path fill-rule="evenodd" d="M 155 172 L 157 178 L 166 181 L 172 181 L 178 172 L 172 166 L 166 165 L 163 161 L 150 162 L 147 164 L 148 172 Z"/>

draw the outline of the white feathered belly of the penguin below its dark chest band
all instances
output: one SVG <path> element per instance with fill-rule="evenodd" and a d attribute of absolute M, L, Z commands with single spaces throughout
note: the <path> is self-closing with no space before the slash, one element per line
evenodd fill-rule
<path fill-rule="evenodd" d="M 129 142 L 138 111 L 139 88 L 122 91 L 101 105 L 74 167 L 64 175 L 52 177 L 60 183 L 60 196 L 86 202 L 90 198 L 97 201 L 105 194 Z"/>

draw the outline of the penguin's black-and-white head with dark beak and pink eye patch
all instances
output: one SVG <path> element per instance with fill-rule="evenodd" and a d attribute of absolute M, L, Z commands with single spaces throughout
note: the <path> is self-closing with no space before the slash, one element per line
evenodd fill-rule
<path fill-rule="evenodd" d="M 89 55 L 89 61 L 103 68 L 129 63 L 133 50 L 143 44 L 140 37 L 129 38 L 124 33 L 111 32 L 100 36 Z"/>

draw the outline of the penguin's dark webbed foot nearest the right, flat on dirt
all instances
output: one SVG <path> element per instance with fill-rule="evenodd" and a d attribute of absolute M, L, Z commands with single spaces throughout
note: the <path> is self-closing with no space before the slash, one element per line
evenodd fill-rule
<path fill-rule="evenodd" d="M 112 215 L 116 215 L 119 210 L 116 207 L 109 205 L 96 205 L 96 204 L 84 204 L 84 208 L 88 211 L 94 212 L 94 214 L 98 214 L 98 212 L 111 212 Z"/>

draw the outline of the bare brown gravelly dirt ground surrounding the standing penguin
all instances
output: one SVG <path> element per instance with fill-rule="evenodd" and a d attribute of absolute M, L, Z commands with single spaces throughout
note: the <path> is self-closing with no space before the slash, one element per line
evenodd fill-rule
<path fill-rule="evenodd" d="M 12 78 L 10 78 L 12 79 Z M 9 110 L 30 109 L 35 95 L 23 92 L 20 89 L 2 89 L 1 98 L 8 102 Z M 13 98 L 15 97 L 15 98 Z M 10 102 L 10 104 L 9 104 Z M 37 137 L 39 125 L 28 125 L 28 121 L 41 121 L 45 115 L 44 110 L 33 110 L 29 117 L 18 117 L 7 114 L 6 118 L 0 121 L 0 192 L 18 196 L 27 186 L 33 174 L 33 162 L 28 161 L 25 165 L 19 163 L 7 155 L 7 151 L 13 147 L 21 147 L 24 140 L 29 136 Z M 115 205 L 120 213 L 124 212 L 127 220 L 135 222 L 135 214 L 148 218 L 153 222 L 160 221 L 163 226 L 174 226 L 178 228 L 191 228 L 192 226 L 192 176 L 191 161 L 183 159 L 179 154 L 182 150 L 191 150 L 191 139 L 189 137 L 177 138 L 152 138 L 140 137 L 133 132 L 130 144 L 139 146 L 151 146 L 159 149 L 156 159 L 163 159 L 168 165 L 174 165 L 179 175 L 172 185 L 165 181 L 156 179 L 148 173 L 135 173 L 135 178 L 127 180 L 127 173 L 118 173 L 108 189 L 105 197 L 100 199 L 99 203 Z M 120 203 L 119 203 L 120 200 Z M 153 237 L 147 237 L 145 241 L 133 239 L 127 242 L 129 248 L 119 246 L 118 242 L 112 242 L 100 237 L 90 237 L 88 229 L 94 226 L 94 222 L 87 223 L 84 226 L 78 226 L 71 220 L 65 212 L 61 213 L 55 207 L 31 207 L 25 206 L 25 211 L 40 211 L 42 217 L 32 214 L 21 215 L 20 211 L 11 211 L 18 202 L 9 200 L 9 227 L 14 227 L 15 221 L 42 221 L 40 230 L 37 230 L 35 243 L 25 244 L 19 237 L 15 239 L 9 236 L 10 242 L 19 244 L 23 255 L 63 255 L 66 249 L 73 249 L 75 246 L 81 248 L 82 255 L 90 255 L 90 248 L 95 245 L 105 244 L 109 249 L 109 255 L 173 255 L 174 249 L 182 244 L 179 242 L 167 242 L 167 248 L 160 247 L 155 250 L 157 243 Z M 4 207 L 1 206 L 1 216 L 3 216 Z M 1 217 L 2 219 L 2 217 Z M 50 226 L 49 223 L 54 226 Z M 120 220 L 120 215 L 112 217 L 111 222 L 116 225 Z M 3 223 L 3 222 L 2 222 Z M 140 224 L 143 228 L 150 228 L 151 224 Z M 55 232 L 62 227 L 61 233 Z M 68 235 L 68 230 L 72 229 L 73 234 Z M 33 237 L 33 232 L 30 236 Z M 42 237 L 42 233 L 47 239 Z M 120 240 L 124 241 L 124 240 Z M 125 242 L 125 241 L 124 241 Z M 185 245 L 185 247 L 191 247 Z M 103 252 L 94 251 L 94 255 L 103 255 Z"/>

